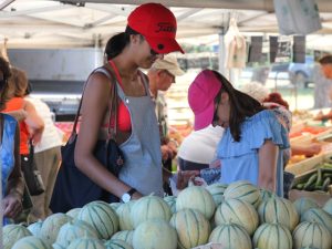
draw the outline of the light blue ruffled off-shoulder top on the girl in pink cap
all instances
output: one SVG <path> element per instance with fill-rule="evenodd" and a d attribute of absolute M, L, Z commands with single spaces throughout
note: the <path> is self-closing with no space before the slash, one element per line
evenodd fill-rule
<path fill-rule="evenodd" d="M 241 125 L 241 139 L 235 142 L 227 128 L 217 147 L 221 160 L 220 181 L 230 184 L 249 180 L 258 184 L 258 149 L 264 141 L 271 139 L 279 146 L 277 163 L 277 195 L 283 196 L 283 149 L 290 147 L 287 129 L 280 124 L 272 111 L 264 110 L 246 118 Z"/>

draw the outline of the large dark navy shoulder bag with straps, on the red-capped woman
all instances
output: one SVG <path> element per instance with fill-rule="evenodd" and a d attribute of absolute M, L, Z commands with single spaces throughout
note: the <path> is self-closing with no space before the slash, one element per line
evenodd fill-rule
<path fill-rule="evenodd" d="M 104 66 L 102 69 L 106 68 Z M 107 139 L 98 139 L 96 142 L 94 156 L 113 175 L 118 176 L 118 173 L 124 164 L 124 156 L 115 141 L 117 118 L 117 91 L 115 80 L 113 80 L 113 74 L 108 69 L 106 70 L 108 72 L 107 77 L 111 82 L 111 105 L 108 107 L 110 121 L 107 128 Z M 96 70 L 94 72 L 96 72 Z M 71 137 L 65 146 L 61 148 L 62 163 L 56 176 L 54 190 L 50 203 L 50 208 L 53 212 L 66 212 L 72 208 L 82 207 L 85 204 L 94 200 L 104 200 L 107 203 L 118 201 L 117 197 L 92 181 L 75 165 L 74 151 L 77 139 L 76 125 L 87 81 L 85 82 Z M 112 120 L 115 121 L 113 122 L 114 127 L 111 127 Z"/>

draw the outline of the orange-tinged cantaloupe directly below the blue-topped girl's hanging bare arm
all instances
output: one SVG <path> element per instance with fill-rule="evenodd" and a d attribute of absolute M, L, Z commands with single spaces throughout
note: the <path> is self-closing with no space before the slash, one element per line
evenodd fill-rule
<path fill-rule="evenodd" d="M 277 196 L 262 201 L 258 208 L 260 224 L 278 222 L 292 231 L 299 222 L 299 215 L 293 204 L 284 198 Z"/>

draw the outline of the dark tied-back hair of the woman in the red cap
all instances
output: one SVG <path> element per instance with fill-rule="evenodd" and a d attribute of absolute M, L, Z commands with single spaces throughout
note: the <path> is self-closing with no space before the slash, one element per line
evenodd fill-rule
<path fill-rule="evenodd" d="M 104 52 L 107 61 L 121 54 L 124 48 L 131 42 L 132 34 L 139 34 L 139 33 L 131 29 L 129 27 L 126 27 L 125 32 L 115 34 L 107 41 L 105 46 L 105 52 Z"/>

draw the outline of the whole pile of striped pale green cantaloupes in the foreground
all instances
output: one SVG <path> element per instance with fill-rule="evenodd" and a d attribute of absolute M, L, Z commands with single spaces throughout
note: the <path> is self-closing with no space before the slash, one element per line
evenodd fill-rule
<path fill-rule="evenodd" d="M 178 197 L 93 201 L 24 227 L 3 228 L 4 249 L 331 249 L 332 199 L 291 203 L 248 181 L 190 186 Z"/>

